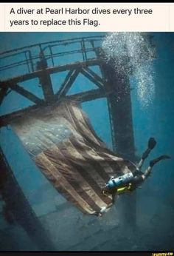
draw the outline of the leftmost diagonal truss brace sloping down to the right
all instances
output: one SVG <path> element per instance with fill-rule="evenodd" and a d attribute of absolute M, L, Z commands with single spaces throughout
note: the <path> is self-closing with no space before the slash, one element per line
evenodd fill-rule
<path fill-rule="evenodd" d="M 19 94 L 23 95 L 29 101 L 34 102 L 35 104 L 41 104 L 42 100 L 35 96 L 32 92 L 25 90 L 24 88 L 20 87 L 18 84 L 10 84 L 9 85 L 11 90 L 18 92 Z"/>

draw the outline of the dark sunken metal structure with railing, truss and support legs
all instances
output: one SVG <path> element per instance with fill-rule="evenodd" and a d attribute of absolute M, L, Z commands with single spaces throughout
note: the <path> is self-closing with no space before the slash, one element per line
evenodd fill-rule
<path fill-rule="evenodd" d="M 0 104 L 11 91 L 17 92 L 32 102 L 32 106 L 25 107 L 22 110 L 11 112 L 7 115 L 1 115 L 1 127 L 7 127 L 15 124 L 20 118 L 26 118 L 31 112 L 45 111 L 46 107 L 52 107 L 63 99 L 78 101 L 94 101 L 97 98 L 106 98 L 108 102 L 108 114 L 111 124 L 111 138 L 114 152 L 122 158 L 135 160 L 135 145 L 133 139 L 133 121 L 131 111 L 130 84 L 129 78 L 116 73 L 114 64 L 111 61 L 105 61 L 105 54 L 100 47 L 103 36 L 92 36 L 84 38 L 72 38 L 62 41 L 49 41 L 43 44 L 34 44 L 29 47 L 22 47 L 15 50 L 9 50 L 0 53 L 0 73 L 6 72 L 8 78 L 1 78 L 0 81 Z M 74 58 L 74 56 L 76 56 Z M 61 64 L 61 58 L 66 58 L 66 64 Z M 7 60 L 7 61 L 6 61 Z M 100 73 L 94 71 L 97 67 Z M 15 76 L 13 70 L 20 70 Z M 52 85 L 52 74 L 66 72 L 64 81 L 58 81 L 58 90 Z M 84 75 L 88 81 L 94 83 L 97 89 L 86 92 L 77 92 L 69 95 L 69 90 L 75 86 L 75 80 L 78 75 Z M 43 98 L 39 98 L 34 92 L 27 90 L 27 86 L 22 87 L 21 83 L 30 84 L 32 79 L 38 79 L 39 86 L 43 91 Z M 95 111 L 95 110 L 94 110 Z M 126 146 L 125 146 L 126 145 Z M 56 211 L 49 212 L 41 216 L 33 209 L 27 199 L 27 195 L 21 188 L 20 181 L 15 177 L 15 172 L 7 163 L 3 150 L 1 152 L 1 172 L 0 188 L 2 200 L 5 201 L 10 212 L 13 213 L 15 221 L 23 227 L 29 235 L 29 238 L 35 241 L 38 249 L 86 249 L 83 246 L 83 240 L 88 243 L 87 249 L 97 249 L 100 246 L 99 240 L 96 245 L 91 243 L 95 235 L 100 235 L 97 227 L 97 218 L 95 218 L 96 228 L 88 235 L 81 235 L 81 241 L 62 245 L 52 239 L 50 232 L 46 232 L 45 224 L 53 218 L 55 212 L 58 213 L 56 220 L 63 217 L 63 211 L 71 209 L 67 201 L 63 201 L 56 208 Z M 125 201 L 125 221 L 135 225 L 136 223 L 136 195 L 123 196 Z M 71 211 L 71 210 L 70 210 Z M 124 212 L 124 211 L 123 211 Z M 81 214 L 81 213 L 80 213 Z M 71 218 L 71 215 L 69 215 Z M 56 221 L 55 220 L 55 221 Z M 88 220 L 91 223 L 91 220 Z M 51 226 L 49 226 L 52 229 Z M 62 227 L 63 229 L 63 227 Z M 69 227 L 70 229 L 70 227 Z M 114 237 L 114 226 L 108 230 Z M 61 233 L 61 227 L 60 227 Z M 60 235 L 60 234 L 59 234 Z M 111 238 L 111 237 L 110 237 Z M 110 239 L 109 238 L 109 239 Z M 100 243 L 103 241 L 101 240 Z M 58 243 L 56 247 L 55 244 Z M 66 246 L 65 246 L 66 244 Z M 62 247 L 61 247 L 62 246 Z M 90 247 L 91 246 L 91 247 Z"/>

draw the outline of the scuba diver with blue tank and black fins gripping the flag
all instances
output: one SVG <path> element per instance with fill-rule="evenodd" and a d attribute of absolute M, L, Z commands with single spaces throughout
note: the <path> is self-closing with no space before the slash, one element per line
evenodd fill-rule
<path fill-rule="evenodd" d="M 153 166 L 157 164 L 159 161 L 163 159 L 169 159 L 170 156 L 168 155 L 161 155 L 159 158 L 153 159 L 150 161 L 150 165 L 147 167 L 145 172 L 142 172 L 142 165 L 144 164 L 145 159 L 150 154 L 150 151 L 156 146 L 156 141 L 154 138 L 150 138 L 148 141 L 148 147 L 142 155 L 142 159 L 139 161 L 139 164 L 133 164 L 133 171 L 126 173 L 125 175 L 119 176 L 111 179 L 108 183 L 105 183 L 105 187 L 102 189 L 102 194 L 105 196 L 112 197 L 112 203 L 115 201 L 116 195 L 120 195 L 124 192 L 132 192 L 135 190 L 139 185 L 141 185 L 147 177 L 150 176 Z M 106 211 L 106 208 L 103 208 L 99 216 L 102 215 L 103 212 Z"/>

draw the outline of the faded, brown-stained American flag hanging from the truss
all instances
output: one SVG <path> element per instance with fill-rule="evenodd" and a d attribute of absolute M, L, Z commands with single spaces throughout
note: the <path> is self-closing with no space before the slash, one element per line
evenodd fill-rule
<path fill-rule="evenodd" d="M 112 205 L 102 188 L 130 172 L 130 161 L 105 146 L 79 102 L 62 100 L 30 110 L 11 122 L 27 152 L 67 201 L 88 214 Z"/>

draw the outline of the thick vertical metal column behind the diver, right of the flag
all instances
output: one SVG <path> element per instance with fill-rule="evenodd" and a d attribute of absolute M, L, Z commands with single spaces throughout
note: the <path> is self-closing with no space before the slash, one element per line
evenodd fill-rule
<path fill-rule="evenodd" d="M 129 79 L 125 74 L 116 72 L 112 60 L 106 64 L 104 59 L 100 67 L 104 74 L 105 91 L 112 91 L 107 100 L 114 152 L 118 153 L 122 158 L 135 161 Z M 136 226 L 136 193 L 122 195 L 122 199 L 124 221 L 134 228 Z"/>

